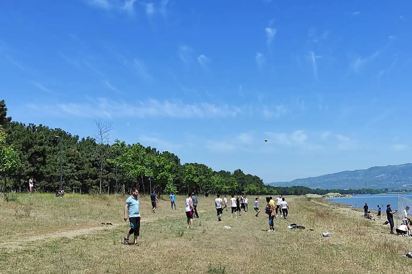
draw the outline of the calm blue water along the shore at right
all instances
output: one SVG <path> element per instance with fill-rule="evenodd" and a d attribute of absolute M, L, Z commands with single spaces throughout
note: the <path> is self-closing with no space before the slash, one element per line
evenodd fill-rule
<path fill-rule="evenodd" d="M 400 193 L 399 195 L 412 199 L 412 193 Z M 335 203 L 347 204 L 358 208 L 363 208 L 365 203 L 367 203 L 369 210 L 378 210 L 378 204 L 382 207 L 382 211 L 386 210 L 387 204 L 391 205 L 392 210 L 395 210 L 398 207 L 398 193 L 353 195 L 352 197 L 328 198 L 328 200 Z"/>

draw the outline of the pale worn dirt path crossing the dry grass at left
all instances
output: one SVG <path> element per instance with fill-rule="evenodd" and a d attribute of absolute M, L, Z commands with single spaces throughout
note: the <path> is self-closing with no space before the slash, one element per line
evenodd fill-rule
<path fill-rule="evenodd" d="M 203 213 L 206 211 L 209 211 L 209 209 L 199 210 L 198 212 Z M 173 217 L 173 216 L 178 216 L 178 215 L 182 215 L 182 214 L 179 212 L 179 213 L 170 214 L 166 217 Z M 154 218 L 154 217 L 143 218 L 141 220 L 141 223 L 154 222 L 158 220 L 159 218 Z M 81 236 L 81 235 L 88 235 L 90 233 L 94 233 L 94 232 L 101 231 L 101 230 L 114 229 L 114 228 L 117 228 L 125 224 L 128 224 L 128 222 L 114 223 L 112 225 L 100 225 L 100 226 L 95 226 L 91 228 L 82 228 L 82 229 L 77 229 L 77 230 L 54 232 L 54 233 L 48 233 L 44 235 L 36 235 L 30 238 L 14 239 L 12 241 L 1 242 L 0 248 L 19 248 L 19 247 L 23 247 L 22 246 L 23 244 L 27 244 L 29 242 L 51 240 L 51 239 L 62 238 L 62 237 L 74 238 L 74 237 Z"/>

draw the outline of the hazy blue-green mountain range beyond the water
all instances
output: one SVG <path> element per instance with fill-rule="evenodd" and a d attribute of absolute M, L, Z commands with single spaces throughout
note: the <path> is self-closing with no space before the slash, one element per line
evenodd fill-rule
<path fill-rule="evenodd" d="M 366 184 L 365 184 L 366 183 Z M 269 183 L 270 186 L 307 186 L 322 189 L 408 189 L 412 188 L 412 164 L 370 167 L 367 170 L 342 171 L 290 182 Z"/>

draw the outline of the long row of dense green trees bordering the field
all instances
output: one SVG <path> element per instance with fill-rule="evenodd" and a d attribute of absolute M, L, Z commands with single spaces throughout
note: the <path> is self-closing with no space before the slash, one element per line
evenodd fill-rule
<path fill-rule="evenodd" d="M 259 176 L 213 171 L 200 163 L 181 164 L 169 151 L 140 143 L 110 142 L 112 125 L 95 121 L 96 134 L 80 138 L 60 128 L 25 125 L 7 116 L 5 101 L 0 101 L 0 178 L 3 191 L 26 191 L 28 179 L 35 179 L 40 192 L 60 188 L 60 146 L 62 143 L 62 185 L 76 193 L 141 193 L 171 191 L 196 193 L 246 193 L 305 195 L 345 193 L 346 190 L 313 190 L 303 186 L 273 187 Z M 347 192 L 347 191 L 346 191 Z"/>

